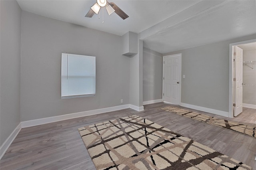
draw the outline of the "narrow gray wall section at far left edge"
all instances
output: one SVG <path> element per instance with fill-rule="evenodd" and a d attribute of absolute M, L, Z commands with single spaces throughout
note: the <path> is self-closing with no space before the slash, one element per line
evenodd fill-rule
<path fill-rule="evenodd" d="M 0 0 L 0 146 L 20 123 L 21 9 Z"/>

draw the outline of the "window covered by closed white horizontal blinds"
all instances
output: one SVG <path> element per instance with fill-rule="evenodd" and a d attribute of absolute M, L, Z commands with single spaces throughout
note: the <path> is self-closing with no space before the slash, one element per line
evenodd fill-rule
<path fill-rule="evenodd" d="M 95 95 L 95 57 L 62 53 L 61 98 Z"/>

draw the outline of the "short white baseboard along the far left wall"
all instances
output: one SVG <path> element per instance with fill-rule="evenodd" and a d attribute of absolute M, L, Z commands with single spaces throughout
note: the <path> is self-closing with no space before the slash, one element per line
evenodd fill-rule
<path fill-rule="evenodd" d="M 12 131 L 10 136 L 4 141 L 2 146 L 0 147 L 0 160 L 4 156 L 6 150 L 9 148 L 9 146 L 12 144 L 13 140 L 16 138 L 18 133 L 21 130 L 21 123 Z"/>

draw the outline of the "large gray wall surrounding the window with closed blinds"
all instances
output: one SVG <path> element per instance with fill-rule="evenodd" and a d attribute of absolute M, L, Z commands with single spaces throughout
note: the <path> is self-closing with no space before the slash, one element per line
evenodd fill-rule
<path fill-rule="evenodd" d="M 60 99 L 62 52 L 96 56 L 95 97 Z M 121 53 L 120 36 L 22 11 L 21 121 L 129 104 Z"/>

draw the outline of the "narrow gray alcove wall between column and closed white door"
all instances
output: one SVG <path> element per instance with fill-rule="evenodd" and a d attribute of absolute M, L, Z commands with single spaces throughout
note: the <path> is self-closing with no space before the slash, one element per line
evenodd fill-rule
<path fill-rule="evenodd" d="M 163 55 L 143 47 L 143 101 L 162 99 Z"/>

